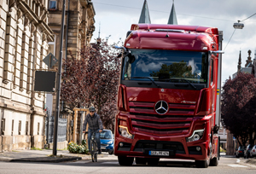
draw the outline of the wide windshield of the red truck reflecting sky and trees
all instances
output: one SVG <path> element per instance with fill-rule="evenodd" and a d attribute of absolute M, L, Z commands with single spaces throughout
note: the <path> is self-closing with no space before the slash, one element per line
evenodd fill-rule
<path fill-rule="evenodd" d="M 207 84 L 207 53 L 161 49 L 130 49 L 123 62 L 123 80 Z"/>

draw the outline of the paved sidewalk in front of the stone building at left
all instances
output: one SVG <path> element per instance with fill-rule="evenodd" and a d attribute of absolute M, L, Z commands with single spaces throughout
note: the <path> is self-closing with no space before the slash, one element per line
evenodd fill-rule
<path fill-rule="evenodd" d="M 98 154 L 98 158 L 103 158 L 108 154 Z M 57 156 L 52 155 L 52 150 L 15 150 L 13 152 L 0 153 L 0 161 L 15 162 L 50 162 L 58 163 L 80 159 L 91 159 L 88 154 L 70 154 L 67 150 L 58 150 Z"/>

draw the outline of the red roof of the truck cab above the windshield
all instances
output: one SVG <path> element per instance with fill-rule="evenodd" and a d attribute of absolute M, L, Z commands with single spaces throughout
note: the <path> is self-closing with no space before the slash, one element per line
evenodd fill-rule
<path fill-rule="evenodd" d="M 131 31 L 125 40 L 125 47 L 128 49 L 175 49 L 202 52 L 213 50 L 214 41 L 211 36 L 212 33 L 218 33 L 218 29 L 212 27 L 155 24 L 133 24 Z"/>

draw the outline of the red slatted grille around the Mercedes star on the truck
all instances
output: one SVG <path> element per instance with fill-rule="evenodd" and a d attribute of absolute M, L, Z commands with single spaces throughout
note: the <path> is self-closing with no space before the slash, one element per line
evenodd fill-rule
<path fill-rule="evenodd" d="M 154 102 L 129 102 L 132 129 L 154 135 L 181 135 L 189 132 L 195 105 L 169 103 L 166 114 L 154 111 Z"/>

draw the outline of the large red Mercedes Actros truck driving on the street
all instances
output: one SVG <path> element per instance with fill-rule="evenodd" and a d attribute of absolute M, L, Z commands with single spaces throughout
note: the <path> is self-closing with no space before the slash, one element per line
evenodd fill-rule
<path fill-rule="evenodd" d="M 222 32 L 205 26 L 133 24 L 119 80 L 114 154 L 119 165 L 160 158 L 218 165 Z"/>

